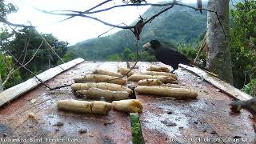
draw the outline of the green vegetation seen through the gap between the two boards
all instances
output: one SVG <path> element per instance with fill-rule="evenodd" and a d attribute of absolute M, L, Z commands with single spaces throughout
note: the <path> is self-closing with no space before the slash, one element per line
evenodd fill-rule
<path fill-rule="evenodd" d="M 142 137 L 142 129 L 141 124 L 139 122 L 138 114 L 130 113 L 130 123 L 131 123 L 131 131 L 133 135 L 133 143 L 134 144 L 141 144 L 144 143 Z"/>

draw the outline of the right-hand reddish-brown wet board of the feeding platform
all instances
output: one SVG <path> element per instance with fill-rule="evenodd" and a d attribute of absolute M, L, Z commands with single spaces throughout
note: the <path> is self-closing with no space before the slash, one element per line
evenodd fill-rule
<path fill-rule="evenodd" d="M 160 62 L 139 62 L 138 72 Z M 153 95 L 136 95 L 143 104 L 139 114 L 146 143 L 240 143 L 253 142 L 254 129 L 249 113 L 230 114 L 232 102 L 225 93 L 186 70 L 176 70 L 179 86 L 198 91 L 194 100 L 174 100 Z"/>

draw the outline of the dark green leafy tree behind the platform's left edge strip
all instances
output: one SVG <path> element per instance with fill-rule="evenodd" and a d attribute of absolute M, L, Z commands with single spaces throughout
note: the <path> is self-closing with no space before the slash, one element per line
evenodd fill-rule
<path fill-rule="evenodd" d="M 46 38 L 46 41 L 50 44 L 50 46 L 52 46 L 60 57 L 66 54 L 68 45 L 67 42 L 59 41 L 58 38 L 55 38 L 52 34 L 42 34 L 42 36 Z M 41 42 L 42 38 L 33 29 L 24 28 L 22 30 L 18 30 L 18 34 L 15 35 L 14 40 L 6 44 L 6 48 L 10 50 L 15 58 L 18 58 L 19 62 L 23 62 L 23 64 L 25 64 L 26 62 L 29 62 L 30 58 L 32 58 L 36 53 Z M 54 55 L 49 50 L 46 43 L 43 42 L 33 60 L 29 62 L 26 67 L 35 73 L 39 73 L 43 70 L 49 69 L 51 66 L 56 66 L 58 64 L 57 62 L 58 57 Z M 20 66 L 16 62 L 14 63 L 16 67 Z M 23 80 L 33 76 L 32 74 L 27 73 L 27 71 L 23 68 L 20 69 L 20 74 Z"/>

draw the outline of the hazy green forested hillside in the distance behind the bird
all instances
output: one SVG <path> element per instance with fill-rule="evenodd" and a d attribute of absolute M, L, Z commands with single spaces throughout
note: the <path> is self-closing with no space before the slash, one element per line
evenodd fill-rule
<path fill-rule="evenodd" d="M 142 18 L 150 18 L 163 7 L 150 7 L 142 14 Z M 135 21 L 138 22 L 138 21 Z M 148 23 L 142 30 L 140 45 L 152 39 L 171 43 L 196 43 L 200 34 L 206 30 L 206 13 L 182 6 L 174 6 L 173 9 L 161 14 L 153 22 Z M 130 30 L 120 30 L 102 38 L 92 38 L 78 42 L 70 46 L 70 50 L 86 60 L 104 61 L 111 54 L 121 54 L 129 47 L 134 50 L 134 35 Z"/>

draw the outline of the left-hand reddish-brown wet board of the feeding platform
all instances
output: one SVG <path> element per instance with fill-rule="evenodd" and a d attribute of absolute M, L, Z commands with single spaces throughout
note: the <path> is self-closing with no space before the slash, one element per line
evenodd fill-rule
<path fill-rule="evenodd" d="M 51 87 L 70 84 L 72 78 L 90 74 L 98 68 L 116 71 L 125 62 L 82 62 L 71 70 L 46 82 Z M 132 140 L 129 114 L 111 110 L 106 116 L 74 114 L 58 111 L 58 100 L 72 98 L 70 86 L 49 91 L 39 86 L 0 109 L 0 138 L 20 138 L 42 142 L 50 140 L 69 143 L 130 143 Z M 35 100 L 34 103 L 32 103 Z M 28 118 L 33 113 L 35 120 Z M 61 122 L 62 126 L 56 126 Z M 81 131 L 84 133 L 81 133 Z M 80 131 L 80 132 L 79 132 Z"/>

